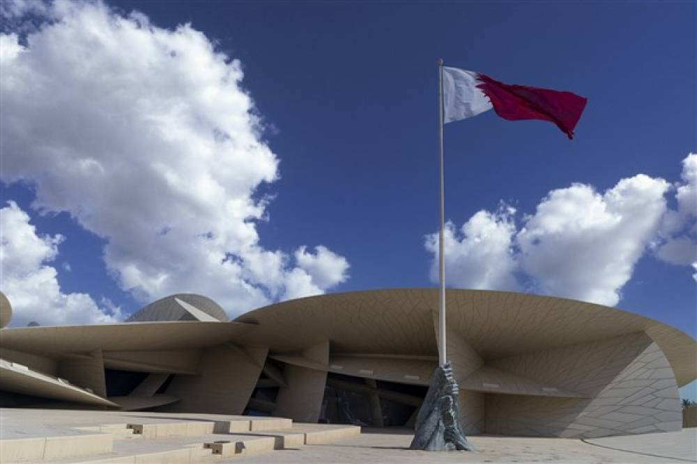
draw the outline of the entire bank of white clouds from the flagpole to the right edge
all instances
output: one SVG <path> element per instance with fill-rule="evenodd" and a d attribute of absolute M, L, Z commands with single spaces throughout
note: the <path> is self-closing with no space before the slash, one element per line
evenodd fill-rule
<path fill-rule="evenodd" d="M 677 209 L 664 179 L 636 175 L 604 192 L 572 184 L 549 192 L 516 227 L 510 209 L 479 211 L 455 233 L 445 230 L 449 285 L 516 289 L 615 305 L 646 250 L 697 269 L 697 154 L 683 161 Z M 503 211 L 503 212 L 502 212 Z M 426 237 L 437 281 L 438 237 Z M 697 273 L 693 276 L 697 280 Z"/>

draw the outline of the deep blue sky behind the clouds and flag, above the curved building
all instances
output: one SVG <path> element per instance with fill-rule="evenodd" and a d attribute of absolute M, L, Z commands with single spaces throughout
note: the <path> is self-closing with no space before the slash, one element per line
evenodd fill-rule
<path fill-rule="evenodd" d="M 468 280 L 468 273 L 480 269 L 477 265 L 482 264 L 477 259 L 490 259 L 493 264 L 503 259 L 505 263 L 514 263 L 506 278 L 513 276 L 516 289 L 551 294 L 554 291 L 550 289 L 563 289 L 563 296 L 572 297 L 591 294 L 592 289 L 579 288 L 579 282 L 562 282 L 562 285 L 551 282 L 550 275 L 543 275 L 544 269 L 559 266 L 558 262 L 540 264 L 545 256 L 558 255 L 553 244 L 550 244 L 552 248 L 546 248 L 546 255 L 539 252 L 542 257 L 526 261 L 520 255 L 521 245 L 512 239 L 512 254 L 506 252 L 502 257 L 497 248 L 498 252 L 494 250 L 493 254 L 484 253 L 477 258 L 467 255 L 473 245 L 468 245 L 458 231 L 477 211 L 484 210 L 489 211 L 488 225 L 498 227 L 496 231 L 503 236 L 517 237 L 526 225 L 528 230 L 533 228 L 534 224 L 528 222 L 530 216 L 539 211 L 537 207 L 551 191 L 578 193 L 581 200 L 577 198 L 574 214 L 579 217 L 585 214 L 585 208 L 592 206 L 583 203 L 588 200 L 583 196 L 588 194 L 588 189 L 592 187 L 603 195 L 614 189 L 620 179 L 643 174 L 671 184 L 666 184 L 665 191 L 659 194 L 659 200 L 666 202 L 664 209 L 654 211 L 660 207 L 658 200 L 647 197 L 643 201 L 653 203 L 625 210 L 634 223 L 625 218 L 629 222 L 619 232 L 601 233 L 593 229 L 588 234 L 571 234 L 567 241 L 557 242 L 556 246 L 558 250 L 573 249 L 574 240 L 578 239 L 583 241 L 578 250 L 607 257 L 613 253 L 613 246 L 636 241 L 640 253 L 625 260 L 629 271 L 618 271 L 628 273 L 626 282 L 622 283 L 620 278 L 620 284 L 611 289 L 618 301 L 611 301 L 610 296 L 598 302 L 669 323 L 693 337 L 697 334 L 694 270 L 689 265 L 674 264 L 657 256 L 660 247 L 676 237 L 693 240 L 689 250 L 694 250 L 695 231 L 690 230 L 694 217 L 690 218 L 689 214 L 672 232 L 661 232 L 667 227 L 666 211 L 680 210 L 675 195 L 677 186 L 688 186 L 687 180 L 681 178 L 682 161 L 690 152 L 697 151 L 694 2 L 113 1 L 108 4 L 114 8 L 110 15 L 128 16 L 132 10 L 138 10 L 149 18 L 152 27 L 162 30 L 190 23 L 190 29 L 210 40 L 215 51 L 240 62 L 243 72 L 240 88 L 254 102 L 252 112 L 261 118 L 261 125 L 255 126 L 256 132 L 261 131 L 259 143 L 273 152 L 275 164 L 269 161 L 270 155 L 263 154 L 265 162 L 273 166 L 264 165 L 254 175 L 250 174 L 248 181 L 252 192 L 248 198 L 266 199 L 263 213 L 255 222 L 258 237 L 249 242 L 252 248 L 261 250 L 254 248 L 254 255 L 245 254 L 252 253 L 247 242 L 247 248 L 243 247 L 246 251 L 240 252 L 241 258 L 236 257 L 232 248 L 228 250 L 229 262 L 252 263 L 240 266 L 242 280 L 254 289 L 261 289 L 258 294 L 247 289 L 247 293 L 240 293 L 243 296 L 231 297 L 231 301 L 239 302 L 239 307 L 303 292 L 433 285 L 429 276 L 432 255 L 424 247 L 424 237 L 436 231 L 438 221 L 436 59 L 443 57 L 446 65 L 484 72 L 508 83 L 572 90 L 588 98 L 574 141 L 567 140 L 549 123 L 508 122 L 491 111 L 445 127 L 446 217 L 454 224 L 453 253 L 464 253 L 449 266 L 449 275 L 454 274 L 451 285 L 470 286 L 466 284 L 473 280 Z M 43 21 L 44 13 L 34 11 L 31 15 L 35 25 Z M 20 22 L 11 24 L 16 26 Z M 79 27 L 87 23 L 75 24 Z M 20 44 L 27 33 L 37 33 L 36 29 L 24 27 L 15 30 L 19 32 Z M 22 45 L 33 47 L 31 40 L 29 45 Z M 130 47 L 132 44 L 124 43 L 117 51 L 124 56 L 132 54 L 132 60 L 144 56 Z M 36 63 L 47 63 L 50 47 L 35 49 Z M 69 47 L 66 53 L 71 50 Z M 117 58 L 123 57 L 114 59 Z M 124 62 L 128 63 L 128 59 Z M 40 72 L 43 68 L 36 63 L 28 69 Z M 56 67 L 52 73 L 56 75 L 61 69 Z M 77 83 L 75 93 L 71 94 L 73 99 L 82 95 L 81 92 L 99 99 L 98 83 L 108 82 L 118 74 L 118 69 L 121 68 L 90 71 L 98 74 L 90 77 L 89 82 Z M 160 68 L 153 67 L 156 69 Z M 148 79 L 154 79 L 151 93 L 159 91 L 158 79 L 162 88 L 173 80 L 167 68 L 162 69 L 165 70 L 162 76 L 142 76 L 148 82 L 146 86 L 150 85 Z M 75 77 L 63 71 L 66 79 Z M 178 72 L 181 70 L 173 68 L 171 75 L 177 76 Z M 134 75 L 129 74 L 128 79 L 137 81 L 137 74 Z M 167 94 L 170 100 L 162 101 L 171 101 L 176 95 L 185 98 L 188 94 L 182 88 L 187 92 L 195 90 L 190 83 L 186 85 L 178 88 L 179 93 Z M 109 86 L 105 84 L 104 89 L 106 92 Z M 141 95 L 141 99 L 147 98 Z M 84 101 L 88 101 L 87 97 Z M 121 106 L 114 106 L 117 107 Z M 245 106 L 240 108 L 241 113 L 246 112 Z M 83 110 L 68 114 L 83 114 Z M 217 107 L 214 110 L 218 111 Z M 84 114 L 87 113 L 85 110 Z M 118 118 L 118 114 L 112 117 Z M 233 115 L 221 113 L 220 118 L 226 120 Z M 68 131 L 75 130 L 76 136 L 84 136 L 85 131 L 94 129 L 94 134 L 103 137 L 109 128 L 109 125 L 96 127 L 95 123 L 94 127 L 86 125 L 83 131 L 75 129 L 79 120 L 75 124 Z M 197 125 L 192 123 L 192 127 L 195 130 Z M 253 132 L 247 131 L 245 136 Z M 230 134 L 231 138 L 236 137 L 232 129 Z M 125 136 L 135 151 L 146 146 L 146 142 L 136 146 L 140 136 L 137 131 L 112 136 L 115 141 Z M 176 135 L 179 136 L 183 137 Z M 56 140 L 59 136 L 46 145 Z M 194 150 L 196 145 L 187 146 Z M 147 147 L 147 150 L 143 148 L 144 153 L 151 150 L 151 145 Z M 10 150 L 7 145 L 6 149 Z M 177 150 L 186 149 L 179 144 Z M 43 159 L 41 150 L 29 152 L 22 154 L 25 160 Z M 105 148 L 105 156 L 119 155 Z M 33 161 L 26 162 L 33 165 Z M 36 163 L 38 166 L 40 161 Z M 121 314 L 128 314 L 148 298 L 160 296 L 158 291 L 171 288 L 160 285 L 153 276 L 169 275 L 175 283 L 192 282 L 186 279 L 189 271 L 176 273 L 181 266 L 187 266 L 186 259 L 199 259 L 200 255 L 177 254 L 183 253 L 179 250 L 167 255 L 169 248 L 164 246 L 160 253 L 157 241 L 153 241 L 154 246 L 136 243 L 137 238 L 128 241 L 128 231 L 121 230 L 121 226 L 126 227 L 124 218 L 130 217 L 129 202 L 139 201 L 138 195 L 134 200 L 118 194 L 134 189 L 128 181 L 118 184 L 112 177 L 108 186 L 77 186 L 75 192 L 62 198 L 61 192 L 69 190 L 66 186 L 79 184 L 77 178 L 63 177 L 54 182 L 50 166 L 24 169 L 21 159 L 15 162 L 10 159 L 6 160 L 1 185 L 3 205 L 8 200 L 16 202 L 17 208 L 29 216 L 26 221 L 36 227 L 38 237 L 56 234 L 64 237 L 61 243 L 54 243 L 53 252 L 44 250 L 37 258 L 40 266 L 55 269 L 61 294 L 88 294 L 100 310 L 112 314 L 117 307 Z M 273 177 L 273 182 L 266 182 Z M 226 179 L 232 182 L 230 179 L 236 177 Z M 661 189 L 656 182 L 642 185 L 646 190 Z M 564 190 L 573 184 L 588 188 Z M 196 184 L 194 188 L 198 188 Z M 45 189 L 43 197 L 41 189 Z M 153 186 L 153 192 L 158 191 Z M 91 198 L 102 193 L 105 198 L 109 196 L 108 202 L 90 203 Z M 178 198 L 175 193 L 163 194 L 155 200 L 174 205 L 172 198 Z M 687 193 L 694 195 L 694 190 Z M 32 207 L 36 198 L 39 201 Z M 215 197 L 206 198 L 210 202 Z M 502 201 L 516 209 L 516 213 L 499 209 Z M 607 207 L 614 200 L 608 197 L 588 201 Z M 76 202 L 79 207 L 75 206 Z M 111 221 L 104 217 L 103 211 L 95 213 L 104 205 L 118 205 L 125 212 L 118 216 L 118 221 Z M 40 214 L 41 207 L 44 214 Z M 91 207 L 95 208 L 92 213 Z M 157 210 L 150 208 L 144 207 L 143 211 Z M 176 214 L 183 209 L 172 211 Z M 134 223 L 141 218 L 139 214 L 133 214 Z M 195 218 L 195 215 L 186 217 Z M 538 219 L 544 222 L 541 217 Z M 572 219 L 567 218 L 567 227 L 576 224 Z M 213 234 L 215 221 L 219 220 L 224 221 L 224 216 L 208 218 L 213 224 Z M 164 237 L 168 236 L 169 223 L 163 221 Z M 649 224 L 651 221 L 653 226 Z M 474 223 L 472 226 L 479 227 Z M 650 232 L 635 237 L 632 231 L 641 229 L 639 226 Z M 176 225 L 172 227 L 176 233 Z M 237 243 L 234 237 L 239 237 L 241 232 L 225 230 L 221 234 L 228 234 L 226 243 Z M 478 230 L 482 232 L 481 228 Z M 597 235 L 593 235 L 595 232 Z M 140 235 L 134 231 L 133 237 Z M 536 240 L 539 238 L 530 239 L 533 248 Z M 551 239 L 543 235 L 544 240 Z M 108 243 L 112 243 L 112 248 L 107 253 Z M 125 249 L 130 245 L 133 250 Z M 314 248 L 318 245 L 326 251 Z M 307 246 L 307 251 L 298 255 L 301 246 Z M 495 246 L 500 243 L 492 245 Z M 603 246 L 608 246 L 608 250 L 602 251 Z M 143 260 L 130 257 L 141 247 L 158 253 L 153 255 L 155 262 L 160 257 L 164 260 L 173 256 L 182 260 L 181 266 L 167 264 L 155 269 L 157 266 L 153 264 L 151 269 Z M 505 244 L 503 248 L 506 249 Z M 282 263 L 275 264 L 273 271 L 255 270 L 255 259 L 268 262 L 273 260 L 272 255 Z M 559 259 L 567 262 L 567 267 L 579 266 L 579 273 L 591 276 L 610 272 L 607 268 L 613 262 L 609 259 L 605 264 L 594 264 L 574 253 Z M 599 269 L 593 267 L 596 264 Z M 129 269 L 153 277 L 151 287 L 135 288 L 132 277 L 124 277 Z M 197 275 L 207 272 L 203 268 L 194 271 Z M 464 277 L 458 280 L 458 273 Z M 273 282 L 264 280 L 263 275 L 272 274 L 278 274 Z M 477 280 L 477 285 L 511 289 L 510 279 L 502 279 Z M 200 287 L 194 285 L 185 290 L 224 295 L 224 286 L 211 287 L 210 279 L 201 282 L 204 283 Z"/>

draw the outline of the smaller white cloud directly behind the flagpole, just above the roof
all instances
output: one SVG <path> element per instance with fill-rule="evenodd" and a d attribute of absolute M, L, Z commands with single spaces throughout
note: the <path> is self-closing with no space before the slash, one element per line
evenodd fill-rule
<path fill-rule="evenodd" d="M 503 205 L 496 213 L 479 211 L 455 230 L 445 225 L 445 281 L 455 287 L 473 289 L 518 289 L 513 276 L 516 262 L 512 238 L 515 210 Z M 426 237 L 426 248 L 434 254 L 431 280 L 438 282 L 438 234 Z"/>

